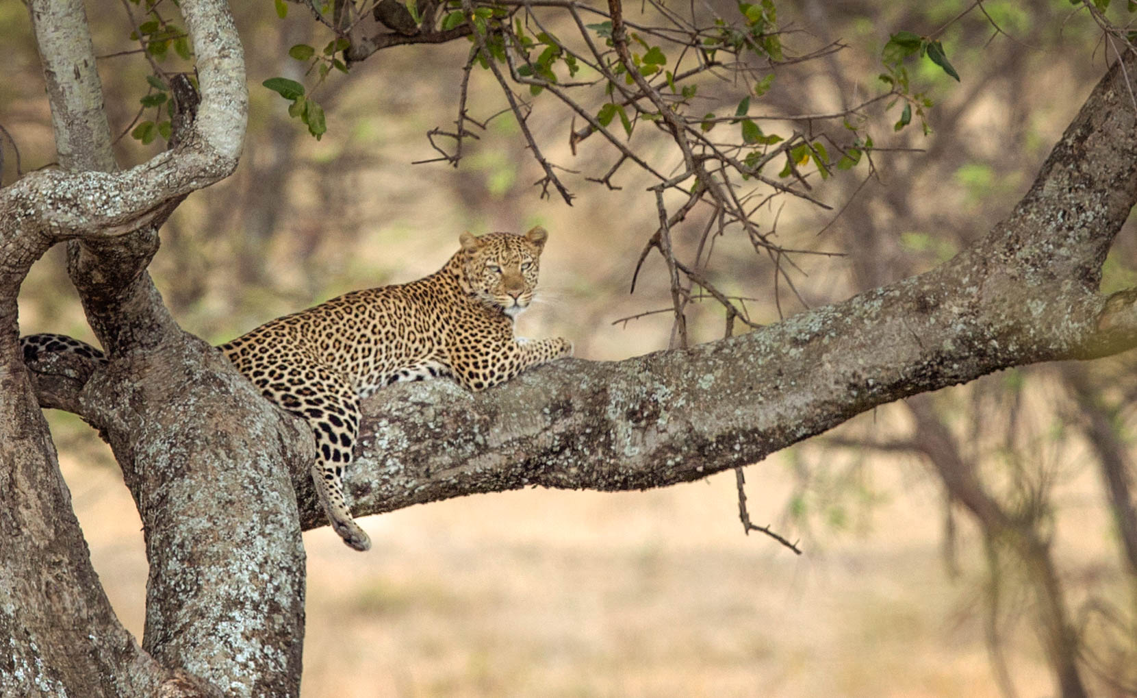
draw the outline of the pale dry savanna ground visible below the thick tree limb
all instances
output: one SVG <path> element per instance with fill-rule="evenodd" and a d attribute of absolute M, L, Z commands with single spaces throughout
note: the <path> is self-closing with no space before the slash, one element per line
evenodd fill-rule
<path fill-rule="evenodd" d="M 783 518 L 781 460 L 748 470 L 760 522 Z M 133 502 L 113 467 L 67 455 L 64 467 L 110 600 L 141 633 Z M 973 536 L 961 536 L 949 581 L 936 487 L 903 463 L 872 470 L 879 503 L 800 557 L 742 535 L 729 473 L 641 493 L 528 490 L 416 507 L 365 519 L 367 553 L 309 532 L 302 695 L 998 696 Z M 1070 483 L 1071 501 L 1084 485 Z M 1102 524 L 1082 503 L 1079 536 Z M 1063 559 L 1086 559 L 1092 575 L 1090 551 L 1070 550 Z M 1005 639 L 1021 695 L 1048 695 L 1029 630 Z"/>

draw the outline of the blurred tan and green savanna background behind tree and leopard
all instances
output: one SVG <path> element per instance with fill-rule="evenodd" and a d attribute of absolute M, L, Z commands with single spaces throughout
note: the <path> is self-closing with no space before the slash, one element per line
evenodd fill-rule
<path fill-rule="evenodd" d="M 579 121 L 534 100 L 530 125 L 545 155 L 580 172 L 565 174 L 571 207 L 532 186 L 542 172 L 509 114 L 467 141 L 459 167 L 412 164 L 437 156 L 428 131 L 453 128 L 470 51 L 459 40 L 384 50 L 350 76 L 333 74 L 318 88 L 329 132 L 316 141 L 260 82 L 302 79 L 289 48 L 327 36 L 302 7 L 279 19 L 267 0 L 235 5 L 251 92 L 244 155 L 234 175 L 179 208 L 151 265 L 184 328 L 221 343 L 346 290 L 429 273 L 463 230 L 542 224 L 541 302 L 520 334 L 571 337 L 591 360 L 673 342 L 667 312 L 622 321 L 671 304 L 657 255 L 629 294 L 657 225 L 652 182 L 630 170 L 619 190 L 586 181 L 613 157 L 591 142 L 571 151 Z M 779 23 L 799 44 L 846 48 L 778 67 L 756 109 L 858 104 L 880 91 L 890 32 L 931 33 L 970 5 L 781 2 Z M 161 142 L 127 133 L 151 68 L 128 52 L 138 44 L 124 7 L 88 2 L 126 166 Z M 1114 54 L 1065 0 L 984 9 L 989 17 L 973 10 L 939 35 L 961 83 L 927 60 L 910 66 L 937 101 L 929 136 L 894 133 L 895 109 L 891 120 L 878 112 L 866 132 L 896 150 L 874 155 L 871 176 L 863 163 L 814 181 L 835 211 L 792 200 L 763 212 L 785 247 L 844 254 L 796 257 L 799 297 L 785 280 L 775 287 L 772 262 L 744 237 L 716 240 L 709 273 L 749 298 L 752 320 L 929 269 L 1029 187 Z M 0 35 L 7 184 L 55 150 L 22 3 L 0 5 Z M 479 118 L 505 106 L 482 71 L 470 106 Z M 666 143 L 648 131 L 632 145 L 665 159 Z M 704 224 L 696 215 L 675 230 L 677 254 L 692 254 Z M 1135 249 L 1130 224 L 1104 290 L 1137 284 Z M 690 306 L 689 322 L 694 340 L 722 336 L 713 304 Z M 27 279 L 20 327 L 92 340 L 61 248 Z M 799 541 L 800 557 L 744 535 L 733 473 L 649 492 L 529 490 L 372 517 L 365 555 L 326 528 L 309 532 L 304 695 L 1052 696 L 1069 671 L 1092 695 L 1137 695 L 1135 368 L 1130 352 L 1003 371 L 862 414 L 747 468 L 752 518 Z M 72 414 L 49 419 L 94 566 L 141 635 L 147 574 L 133 502 L 93 430 Z M 960 473 L 978 493 L 948 490 L 945 475 Z M 981 506 L 1002 516 L 980 519 Z"/>

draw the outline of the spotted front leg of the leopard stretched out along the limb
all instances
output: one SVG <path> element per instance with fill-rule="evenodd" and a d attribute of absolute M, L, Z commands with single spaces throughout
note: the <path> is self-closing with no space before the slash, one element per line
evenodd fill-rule
<path fill-rule="evenodd" d="M 470 391 L 483 391 L 505 383 L 534 366 L 572 355 L 572 343 L 549 339 L 509 338 L 451 351 L 454 376 Z M 488 360 L 487 360 L 488 359 Z"/>

